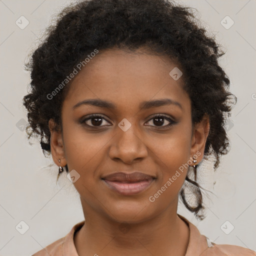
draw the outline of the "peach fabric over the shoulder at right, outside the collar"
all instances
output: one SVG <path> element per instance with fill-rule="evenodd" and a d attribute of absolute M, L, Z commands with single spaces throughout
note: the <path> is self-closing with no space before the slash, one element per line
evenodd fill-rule
<path fill-rule="evenodd" d="M 209 239 L 205 237 L 209 242 Z M 237 245 L 231 244 L 216 244 L 209 242 L 208 248 L 201 254 L 201 256 L 256 256 L 256 252 Z"/>

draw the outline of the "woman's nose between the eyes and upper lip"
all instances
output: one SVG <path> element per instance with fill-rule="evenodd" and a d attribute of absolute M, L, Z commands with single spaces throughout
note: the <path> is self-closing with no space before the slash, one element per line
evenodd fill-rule
<path fill-rule="evenodd" d="M 147 156 L 147 147 L 143 142 L 142 135 L 133 129 L 134 126 L 131 125 L 126 131 L 117 127 L 117 133 L 112 138 L 109 149 L 111 159 L 130 164 L 134 160 L 141 160 Z"/>

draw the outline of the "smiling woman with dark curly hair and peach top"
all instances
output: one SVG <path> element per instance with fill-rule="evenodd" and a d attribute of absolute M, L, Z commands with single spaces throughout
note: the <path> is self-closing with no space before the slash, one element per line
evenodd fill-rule
<path fill-rule="evenodd" d="M 196 167 L 214 156 L 216 169 L 229 145 L 222 54 L 173 2 L 89 0 L 60 13 L 27 64 L 23 103 L 85 221 L 33 255 L 256 255 L 177 214 L 180 196 L 204 217 Z"/>

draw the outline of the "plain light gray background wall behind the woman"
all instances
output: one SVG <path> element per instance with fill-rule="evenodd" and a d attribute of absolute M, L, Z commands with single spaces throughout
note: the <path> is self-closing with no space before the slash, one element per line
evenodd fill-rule
<path fill-rule="evenodd" d="M 51 16 L 70 2 L 0 0 L 0 255 L 31 255 L 83 220 L 72 183 L 62 176 L 56 185 L 57 166 L 48 168 L 51 158 L 43 156 L 37 141 L 29 145 L 25 131 L 20 130 L 20 119 L 26 120 L 22 97 L 30 81 L 29 73 L 23 70 L 24 61 Z M 238 100 L 229 123 L 229 127 L 233 125 L 228 131 L 230 152 L 215 173 L 207 162 L 199 170 L 202 185 L 215 194 L 204 195 L 207 217 L 197 221 L 182 204 L 178 212 L 215 243 L 255 250 L 255 0 L 181 2 L 198 9 L 209 32 L 216 33 L 226 50 L 220 64 Z M 21 15 L 29 20 L 24 29 L 15 24 Z M 220 23 L 226 15 L 234 20 L 229 29 Z M 15 229 L 21 220 L 29 226 L 24 234 Z M 234 226 L 229 234 L 220 228 L 226 220 Z"/>

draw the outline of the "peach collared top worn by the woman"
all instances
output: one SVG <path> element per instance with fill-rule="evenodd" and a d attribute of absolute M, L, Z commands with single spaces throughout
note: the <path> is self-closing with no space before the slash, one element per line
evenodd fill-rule
<path fill-rule="evenodd" d="M 185 256 L 256 256 L 256 252 L 241 246 L 215 244 L 208 237 L 200 234 L 199 230 L 186 218 L 179 215 L 189 227 L 189 241 Z M 75 224 L 70 232 L 37 251 L 31 256 L 78 256 L 74 246 L 73 235 L 84 224 L 84 220 Z"/>

